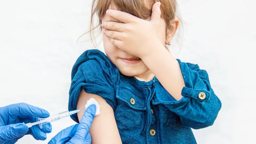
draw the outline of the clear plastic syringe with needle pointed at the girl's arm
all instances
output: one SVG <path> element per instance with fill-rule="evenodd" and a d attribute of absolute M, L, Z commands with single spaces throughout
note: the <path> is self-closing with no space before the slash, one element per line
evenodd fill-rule
<path fill-rule="evenodd" d="M 43 124 L 47 124 L 47 123 L 51 123 L 51 122 L 54 122 L 54 121 L 58 121 L 59 119 L 61 119 L 63 117 L 68 117 L 70 115 L 76 114 L 76 113 L 78 113 L 78 111 L 80 111 L 80 110 L 76 109 L 76 110 L 72 110 L 72 111 L 63 111 L 62 113 L 55 114 L 55 115 L 49 116 L 47 118 L 40 118 L 37 122 L 34 122 L 34 123 L 26 123 L 26 125 L 28 127 L 32 127 L 34 125 L 39 124 L 39 127 L 42 129 L 43 128 L 43 126 L 42 126 Z"/>

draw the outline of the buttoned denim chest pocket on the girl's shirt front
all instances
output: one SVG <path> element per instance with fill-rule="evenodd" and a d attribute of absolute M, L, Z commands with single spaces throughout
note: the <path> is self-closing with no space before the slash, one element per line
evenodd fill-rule
<path fill-rule="evenodd" d="M 143 92 L 130 87 L 117 86 L 115 118 L 119 128 L 138 128 L 145 121 L 146 105 Z"/>

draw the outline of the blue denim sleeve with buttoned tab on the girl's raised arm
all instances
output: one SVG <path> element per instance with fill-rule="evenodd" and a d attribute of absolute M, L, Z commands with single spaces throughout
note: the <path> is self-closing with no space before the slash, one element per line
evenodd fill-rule
<path fill-rule="evenodd" d="M 193 129 L 201 129 L 214 123 L 221 102 L 215 95 L 207 72 L 198 65 L 178 60 L 185 81 L 179 101 L 171 101 L 166 106 L 180 116 L 181 123 Z M 166 101 L 166 100 L 165 100 Z"/>

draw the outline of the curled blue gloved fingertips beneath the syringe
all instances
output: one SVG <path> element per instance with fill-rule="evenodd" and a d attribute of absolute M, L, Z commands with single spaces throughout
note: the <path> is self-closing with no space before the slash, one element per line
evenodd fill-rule
<path fill-rule="evenodd" d="M 50 123 L 42 125 L 41 129 L 39 125 L 32 126 L 27 134 L 33 135 L 36 140 L 45 140 L 46 133 L 50 133 L 52 131 L 52 125 Z"/>

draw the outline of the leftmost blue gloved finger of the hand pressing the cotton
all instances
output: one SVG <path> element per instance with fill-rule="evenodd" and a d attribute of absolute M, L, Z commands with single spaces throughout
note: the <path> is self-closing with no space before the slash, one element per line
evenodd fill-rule
<path fill-rule="evenodd" d="M 67 127 L 66 129 L 60 131 L 58 134 L 56 134 L 49 142 L 48 144 L 55 144 L 55 143 L 66 143 L 69 141 L 73 135 L 76 132 L 78 124 L 71 125 Z"/>

